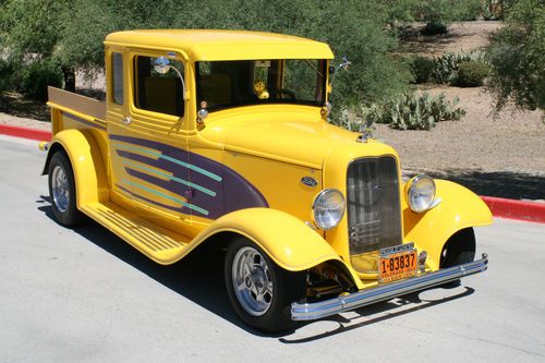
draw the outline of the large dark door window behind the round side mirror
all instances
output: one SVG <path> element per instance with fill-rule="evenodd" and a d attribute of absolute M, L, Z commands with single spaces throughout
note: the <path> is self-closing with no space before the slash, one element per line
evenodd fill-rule
<path fill-rule="evenodd" d="M 134 106 L 142 110 L 183 116 L 184 100 L 182 81 L 175 68 L 183 75 L 183 64 L 170 60 L 167 74 L 154 70 L 156 58 L 136 56 L 134 58 Z"/>

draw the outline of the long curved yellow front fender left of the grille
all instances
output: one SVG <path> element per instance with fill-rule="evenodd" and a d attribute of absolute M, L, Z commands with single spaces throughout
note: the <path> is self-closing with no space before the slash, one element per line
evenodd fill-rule
<path fill-rule="evenodd" d="M 234 232 L 250 239 L 280 267 L 301 271 L 326 261 L 337 261 L 359 285 L 353 270 L 315 230 L 300 219 L 271 208 L 240 209 L 218 218 L 194 240 L 201 244 L 220 232 Z M 361 282 L 360 282 L 361 283 Z"/>

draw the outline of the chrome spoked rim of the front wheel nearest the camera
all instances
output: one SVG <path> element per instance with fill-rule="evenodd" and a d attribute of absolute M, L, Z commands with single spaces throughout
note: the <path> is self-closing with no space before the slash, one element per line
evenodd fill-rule
<path fill-rule="evenodd" d="M 253 316 L 265 314 L 272 301 L 269 266 L 257 250 L 240 249 L 233 258 L 232 283 L 241 306 Z"/>

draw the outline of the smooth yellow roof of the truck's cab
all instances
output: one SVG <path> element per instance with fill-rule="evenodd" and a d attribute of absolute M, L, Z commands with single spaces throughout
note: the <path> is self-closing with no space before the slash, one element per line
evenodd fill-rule
<path fill-rule="evenodd" d="M 109 34 L 105 45 L 181 51 L 193 61 L 334 58 L 325 43 L 292 35 L 247 31 L 126 31 Z"/>

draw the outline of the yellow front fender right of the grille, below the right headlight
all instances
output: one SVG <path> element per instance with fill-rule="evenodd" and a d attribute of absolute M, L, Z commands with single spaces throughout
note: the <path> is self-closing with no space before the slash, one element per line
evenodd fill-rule
<path fill-rule="evenodd" d="M 425 213 L 414 213 L 402 198 L 405 241 L 427 251 L 427 265 L 439 268 L 440 253 L 447 240 L 457 231 L 492 223 L 486 204 L 467 187 L 446 180 L 435 180 L 436 197 L 441 202 Z"/>

